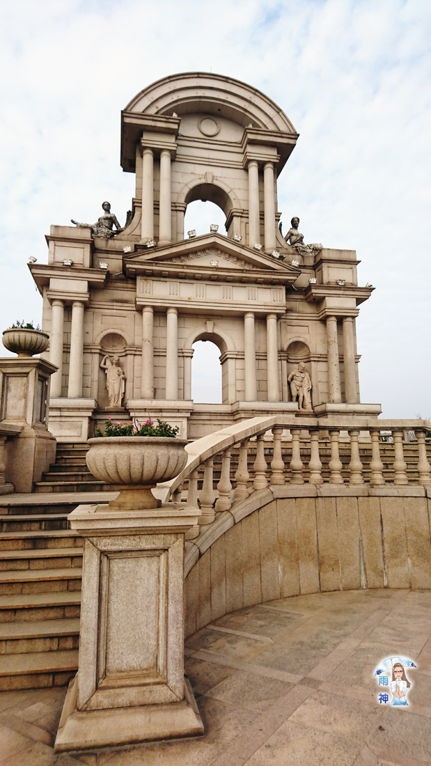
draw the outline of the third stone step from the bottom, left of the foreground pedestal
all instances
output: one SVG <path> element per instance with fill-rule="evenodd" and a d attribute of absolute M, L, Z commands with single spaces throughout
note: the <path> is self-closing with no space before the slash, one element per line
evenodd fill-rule
<path fill-rule="evenodd" d="M 77 618 L 80 603 L 80 591 L 2 595 L 0 623 Z"/>

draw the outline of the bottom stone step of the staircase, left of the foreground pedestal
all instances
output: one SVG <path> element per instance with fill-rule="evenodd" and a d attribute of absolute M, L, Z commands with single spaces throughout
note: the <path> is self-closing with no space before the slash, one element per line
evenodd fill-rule
<path fill-rule="evenodd" d="M 67 686 L 77 667 L 76 649 L 4 654 L 0 656 L 0 691 Z"/>

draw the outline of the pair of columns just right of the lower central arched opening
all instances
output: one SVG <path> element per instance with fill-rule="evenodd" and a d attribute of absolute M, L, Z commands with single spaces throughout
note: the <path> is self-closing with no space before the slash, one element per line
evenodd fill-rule
<path fill-rule="evenodd" d="M 245 401 L 256 401 L 256 339 L 254 332 L 254 314 L 244 315 L 244 375 Z M 279 349 L 277 344 L 277 316 L 266 316 L 266 380 L 267 401 L 279 401 Z"/>

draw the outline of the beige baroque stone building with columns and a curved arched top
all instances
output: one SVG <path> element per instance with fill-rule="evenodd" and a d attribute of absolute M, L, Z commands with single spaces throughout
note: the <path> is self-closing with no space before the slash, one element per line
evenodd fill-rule
<path fill-rule="evenodd" d="M 288 379 L 299 362 L 318 416 L 380 412 L 360 403 L 355 319 L 372 288 L 358 286 L 355 251 L 306 246 L 294 219 L 289 244 L 279 231 L 277 178 L 297 139 L 276 103 L 216 74 L 166 77 L 126 106 L 121 164 L 136 175 L 126 227 L 115 234 L 103 203 L 97 224 L 52 226 L 48 264 L 31 266 L 58 367 L 57 440 L 87 440 L 107 412 L 162 416 L 194 439 L 297 411 Z M 194 200 L 220 206 L 227 236 L 184 233 Z M 191 401 L 198 340 L 220 349 L 223 404 Z"/>

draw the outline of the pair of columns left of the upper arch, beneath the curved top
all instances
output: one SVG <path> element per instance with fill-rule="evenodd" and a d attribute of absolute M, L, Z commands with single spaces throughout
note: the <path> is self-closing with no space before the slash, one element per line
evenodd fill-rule
<path fill-rule="evenodd" d="M 171 244 L 171 152 L 160 152 L 160 197 L 158 208 L 158 244 Z M 142 152 L 142 220 L 141 239 L 148 242 L 154 239 L 154 152 L 144 149 Z"/>

